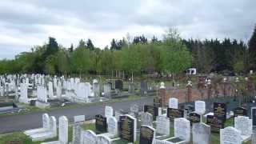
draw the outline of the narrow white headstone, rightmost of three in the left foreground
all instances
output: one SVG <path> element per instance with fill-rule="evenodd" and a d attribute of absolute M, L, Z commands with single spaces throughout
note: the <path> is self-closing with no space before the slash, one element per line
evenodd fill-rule
<path fill-rule="evenodd" d="M 65 116 L 62 116 L 58 119 L 58 141 L 67 144 L 68 143 L 68 128 L 69 122 Z"/>

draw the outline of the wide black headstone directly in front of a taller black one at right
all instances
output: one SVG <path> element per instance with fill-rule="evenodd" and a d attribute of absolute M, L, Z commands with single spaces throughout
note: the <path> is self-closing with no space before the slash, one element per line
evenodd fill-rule
<path fill-rule="evenodd" d="M 224 128 L 224 118 L 207 115 L 206 124 L 210 126 L 211 132 L 219 133 L 219 130 Z"/>

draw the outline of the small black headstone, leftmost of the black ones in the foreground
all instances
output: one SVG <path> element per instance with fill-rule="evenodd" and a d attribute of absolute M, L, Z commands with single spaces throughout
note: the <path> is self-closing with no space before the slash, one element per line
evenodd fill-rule
<path fill-rule="evenodd" d="M 97 134 L 105 133 L 107 131 L 106 117 L 98 114 L 95 115 L 95 129 Z"/>

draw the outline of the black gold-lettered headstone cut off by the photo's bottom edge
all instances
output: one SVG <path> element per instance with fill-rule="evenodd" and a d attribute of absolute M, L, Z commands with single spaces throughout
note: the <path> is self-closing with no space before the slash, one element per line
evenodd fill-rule
<path fill-rule="evenodd" d="M 139 137 L 140 144 L 152 144 L 154 142 L 155 130 L 151 126 L 141 126 L 141 133 Z"/>

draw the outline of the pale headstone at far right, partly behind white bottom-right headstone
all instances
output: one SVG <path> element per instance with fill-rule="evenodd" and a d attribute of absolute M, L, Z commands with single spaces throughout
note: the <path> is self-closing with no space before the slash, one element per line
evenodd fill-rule
<path fill-rule="evenodd" d="M 241 131 L 241 135 L 250 138 L 253 132 L 252 119 L 249 117 L 238 116 L 234 118 L 234 128 Z"/>

